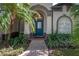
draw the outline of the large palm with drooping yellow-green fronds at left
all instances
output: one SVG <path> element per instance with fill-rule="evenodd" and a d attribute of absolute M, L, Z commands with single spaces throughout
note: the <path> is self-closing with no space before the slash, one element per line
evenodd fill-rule
<path fill-rule="evenodd" d="M 0 16 L 0 30 L 9 33 L 8 39 L 10 39 L 10 32 L 15 20 L 24 20 L 30 24 L 32 31 L 34 32 L 34 22 L 32 20 L 33 11 L 30 9 L 30 4 L 22 3 L 4 3 L 1 4 L 3 10 Z M 7 42 L 7 41 L 6 41 Z"/>

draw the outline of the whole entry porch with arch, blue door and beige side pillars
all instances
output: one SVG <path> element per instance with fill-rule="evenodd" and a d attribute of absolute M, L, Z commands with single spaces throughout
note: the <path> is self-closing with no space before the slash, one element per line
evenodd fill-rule
<path fill-rule="evenodd" d="M 32 6 L 32 10 L 36 11 L 38 14 L 33 15 L 33 20 L 35 22 L 35 32 L 32 32 L 30 25 L 24 25 L 24 34 L 29 37 L 47 37 L 48 34 L 52 33 L 52 16 L 49 10 L 42 5 Z M 50 14 L 49 14 L 50 13 Z"/>

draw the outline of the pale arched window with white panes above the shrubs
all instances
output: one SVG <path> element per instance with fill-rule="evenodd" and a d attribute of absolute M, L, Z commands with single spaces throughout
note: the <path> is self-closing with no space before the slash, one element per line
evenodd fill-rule
<path fill-rule="evenodd" d="M 70 17 L 68 16 L 61 16 L 57 21 L 57 32 L 64 33 L 64 34 L 70 34 L 71 33 L 71 27 L 72 27 L 72 21 Z"/>

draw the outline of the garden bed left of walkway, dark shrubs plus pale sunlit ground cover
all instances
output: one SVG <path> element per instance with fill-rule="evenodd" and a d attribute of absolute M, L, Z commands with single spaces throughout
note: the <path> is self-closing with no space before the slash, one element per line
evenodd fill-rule
<path fill-rule="evenodd" d="M 22 54 L 29 46 L 30 40 L 24 37 L 23 33 L 19 36 L 11 37 L 8 40 L 9 47 L 6 47 L 5 40 L 0 43 L 0 56 L 18 56 Z"/>

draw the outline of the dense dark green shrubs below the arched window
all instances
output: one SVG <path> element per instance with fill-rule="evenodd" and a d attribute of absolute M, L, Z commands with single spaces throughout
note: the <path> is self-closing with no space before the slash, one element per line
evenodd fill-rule
<path fill-rule="evenodd" d="M 70 34 L 50 34 L 46 41 L 49 48 L 69 47 L 71 45 Z"/>

